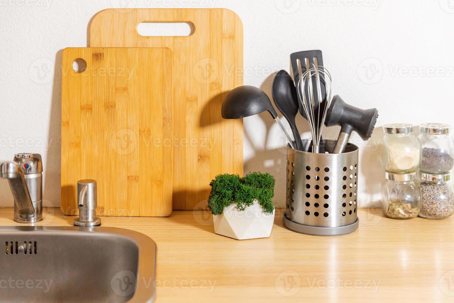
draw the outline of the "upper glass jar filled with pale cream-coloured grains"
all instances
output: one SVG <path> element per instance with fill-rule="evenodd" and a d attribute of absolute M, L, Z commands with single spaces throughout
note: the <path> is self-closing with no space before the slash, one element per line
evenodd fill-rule
<path fill-rule="evenodd" d="M 380 160 L 386 171 L 397 174 L 414 173 L 421 158 L 421 144 L 413 134 L 412 124 L 386 124 Z"/>

